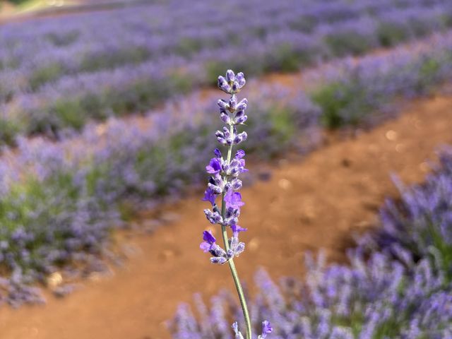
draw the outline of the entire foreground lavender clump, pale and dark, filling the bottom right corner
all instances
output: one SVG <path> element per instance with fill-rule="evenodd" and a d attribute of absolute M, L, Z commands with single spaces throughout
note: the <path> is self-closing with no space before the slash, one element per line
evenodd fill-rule
<path fill-rule="evenodd" d="M 452 338 L 452 151 L 440 159 L 424 184 L 381 208 L 381 229 L 347 251 L 347 265 L 307 255 L 306 277 L 279 285 L 259 271 L 254 326 L 271 319 L 280 339 Z M 196 306 L 201 317 L 180 305 L 173 338 L 229 338 L 224 319 L 240 313 L 229 293 L 213 297 L 210 309 L 197 297 Z"/>

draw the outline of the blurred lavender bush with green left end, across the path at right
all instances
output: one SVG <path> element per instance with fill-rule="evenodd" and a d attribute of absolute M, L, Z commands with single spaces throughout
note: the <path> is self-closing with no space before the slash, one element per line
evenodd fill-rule
<path fill-rule="evenodd" d="M 333 62 L 311 75 L 312 101 L 322 109 L 329 127 L 375 124 L 393 110 L 394 99 L 428 95 L 452 75 L 452 40 L 434 36 L 414 49 L 401 47 L 380 56 Z M 374 112 L 379 110 L 381 114 Z"/>

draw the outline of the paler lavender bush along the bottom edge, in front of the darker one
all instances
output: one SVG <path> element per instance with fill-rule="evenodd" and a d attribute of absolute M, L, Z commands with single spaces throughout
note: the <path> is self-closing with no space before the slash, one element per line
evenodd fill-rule
<path fill-rule="evenodd" d="M 302 281 L 283 278 L 277 285 L 259 271 L 250 305 L 254 323 L 272 319 L 278 339 L 451 338 L 452 286 L 437 263 L 422 258 L 408 268 L 378 252 L 367 260 L 359 251 L 349 256 L 350 266 L 308 256 Z M 240 313 L 231 295 L 212 297 L 210 308 L 198 297 L 196 304 L 201 319 L 189 305 L 179 306 L 170 323 L 173 338 L 230 338 L 225 318 Z"/>

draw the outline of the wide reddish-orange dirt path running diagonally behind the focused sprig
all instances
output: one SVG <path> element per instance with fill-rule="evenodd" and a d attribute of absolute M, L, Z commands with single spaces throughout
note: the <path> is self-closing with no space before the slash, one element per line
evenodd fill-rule
<path fill-rule="evenodd" d="M 451 97 L 413 102 L 398 119 L 324 145 L 302 162 L 280 160 L 268 181 L 244 189 L 248 248 L 237 260 L 243 279 L 251 281 L 258 266 L 274 277 L 302 275 L 304 251 L 321 247 L 343 260 L 351 231 L 371 227 L 383 197 L 396 194 L 389 173 L 421 181 L 424 160 L 452 143 L 451 107 Z M 0 338 L 169 338 L 164 321 L 179 302 L 232 288 L 227 267 L 210 265 L 198 249 L 209 226 L 203 208 L 194 196 L 166 208 L 172 222 L 153 235 L 129 232 L 135 254 L 110 278 L 88 281 L 66 299 L 51 297 L 44 307 L 2 307 Z M 153 225 L 150 215 L 143 217 L 143 227 Z"/>

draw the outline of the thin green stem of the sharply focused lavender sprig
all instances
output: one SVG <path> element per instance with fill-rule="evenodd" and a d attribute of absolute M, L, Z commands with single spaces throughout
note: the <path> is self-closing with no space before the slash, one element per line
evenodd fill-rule
<path fill-rule="evenodd" d="M 230 126 L 230 133 L 234 132 L 234 126 Z M 232 157 L 232 145 L 229 146 L 227 150 L 227 163 L 231 162 Z M 226 180 L 226 176 L 223 177 L 223 180 Z M 225 203 L 225 193 L 223 192 L 221 196 L 221 216 L 224 219 L 226 214 L 226 203 Z M 223 242 L 225 243 L 226 251 L 230 249 L 228 238 L 227 238 L 227 228 L 226 226 L 221 226 Z M 229 261 L 229 267 L 231 269 L 232 278 L 234 279 L 235 288 L 237 289 L 237 294 L 239 295 L 240 304 L 242 305 L 243 316 L 246 323 L 246 339 L 251 339 L 251 320 L 249 319 L 248 307 L 246 306 L 246 299 L 242 289 L 242 284 L 239 280 L 239 274 L 237 273 L 237 269 L 235 268 L 234 260 L 231 258 Z"/>

